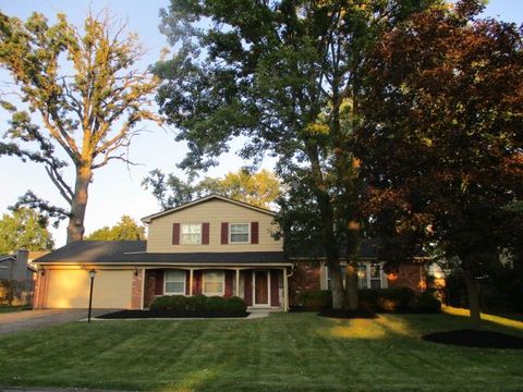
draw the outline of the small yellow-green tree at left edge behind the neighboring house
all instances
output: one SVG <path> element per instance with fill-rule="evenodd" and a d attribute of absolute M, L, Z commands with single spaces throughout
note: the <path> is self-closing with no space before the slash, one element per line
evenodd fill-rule
<path fill-rule="evenodd" d="M 47 220 L 34 210 L 21 208 L 0 219 L 0 254 L 19 249 L 50 250 L 53 245 Z"/>

